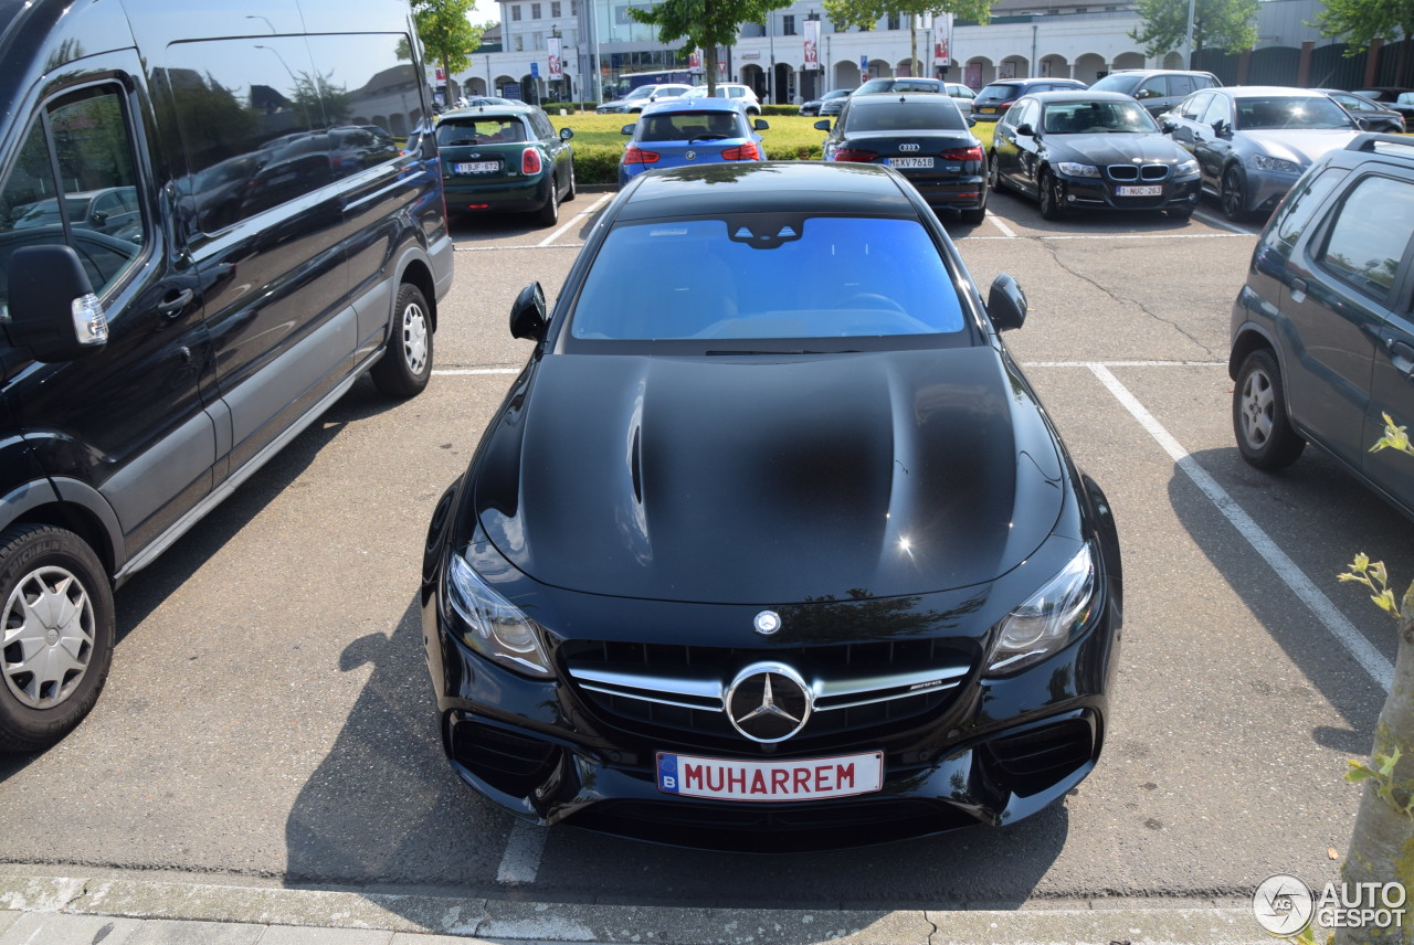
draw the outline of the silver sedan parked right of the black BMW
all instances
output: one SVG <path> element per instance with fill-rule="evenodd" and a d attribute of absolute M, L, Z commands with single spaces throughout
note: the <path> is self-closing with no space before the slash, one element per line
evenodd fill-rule
<path fill-rule="evenodd" d="M 1195 92 L 1161 124 L 1198 158 L 1203 191 L 1230 220 L 1270 213 L 1314 160 L 1360 133 L 1331 96 L 1256 85 Z"/>

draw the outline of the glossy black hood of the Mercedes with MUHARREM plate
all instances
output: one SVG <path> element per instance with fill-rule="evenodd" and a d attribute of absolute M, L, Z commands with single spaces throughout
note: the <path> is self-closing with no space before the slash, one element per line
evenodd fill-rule
<path fill-rule="evenodd" d="M 1052 531 L 1062 470 L 988 347 L 551 355 L 488 432 L 474 503 L 546 585 L 803 603 L 998 578 Z"/>

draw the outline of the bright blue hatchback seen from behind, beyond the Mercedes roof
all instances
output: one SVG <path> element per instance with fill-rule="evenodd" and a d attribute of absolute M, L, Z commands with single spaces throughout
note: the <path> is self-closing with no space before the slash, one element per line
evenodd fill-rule
<path fill-rule="evenodd" d="M 732 161 L 762 161 L 761 131 L 771 126 L 748 119 L 730 99 L 670 99 L 643 109 L 619 158 L 619 186 L 643 171 Z"/>

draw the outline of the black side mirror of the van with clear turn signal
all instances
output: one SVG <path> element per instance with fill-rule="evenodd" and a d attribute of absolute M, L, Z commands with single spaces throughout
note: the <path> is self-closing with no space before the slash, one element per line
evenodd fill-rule
<path fill-rule="evenodd" d="M 13 345 L 48 364 L 71 362 L 107 342 L 107 319 L 72 247 L 23 246 L 10 254 Z"/>

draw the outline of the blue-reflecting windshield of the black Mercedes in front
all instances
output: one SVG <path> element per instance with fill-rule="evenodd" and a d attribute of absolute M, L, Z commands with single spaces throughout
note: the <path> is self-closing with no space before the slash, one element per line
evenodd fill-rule
<path fill-rule="evenodd" d="M 954 280 L 915 219 L 741 213 L 615 226 L 568 323 L 580 340 L 967 343 Z M 877 346 L 877 345 L 875 345 Z"/>

